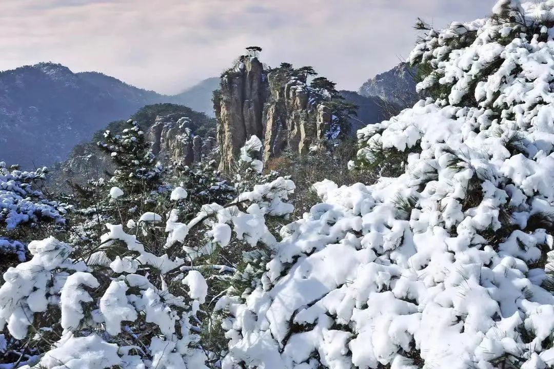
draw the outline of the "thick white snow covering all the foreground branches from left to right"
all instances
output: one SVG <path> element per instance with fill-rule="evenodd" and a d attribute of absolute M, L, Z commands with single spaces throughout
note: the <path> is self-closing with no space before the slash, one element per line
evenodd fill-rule
<path fill-rule="evenodd" d="M 525 13 L 522 22 L 541 25 L 554 13 L 550 0 L 501 0 L 494 12 L 507 4 Z M 202 310 L 212 303 L 208 283 L 229 277 L 213 273 L 219 270 L 250 283 L 240 293 L 229 288 L 215 305 L 228 340 L 216 363 L 222 369 L 552 366 L 554 31 L 526 24 L 540 35 L 491 19 L 429 30 L 411 58 L 440 76 L 418 89 L 442 85 L 442 98 L 357 133 L 351 166 L 371 162 L 371 147 L 382 146 L 401 158 L 396 176 L 372 185 L 314 184 L 319 204 L 281 227 L 278 238 L 266 216 L 294 209 L 287 200 L 295 185 L 282 177 L 239 191 L 229 204 L 205 204 L 192 219 L 180 207 L 163 212 L 160 247 L 106 224 L 102 247 L 121 241 L 130 253 L 101 266 L 76 262 L 72 248 L 52 237 L 34 241 L 33 258 L 4 274 L 0 328 L 24 339 L 34 313 L 59 306 L 65 331 L 41 367 L 203 369 L 217 353 L 204 351 L 194 324 L 209 314 Z M 452 49 L 462 38 L 468 44 Z M 253 136 L 240 150 L 239 164 L 249 170 L 243 179 L 263 169 L 254 159 L 260 149 Z M 177 189 L 172 200 L 186 198 Z M 146 212 L 127 225 L 160 221 Z M 195 263 L 235 241 L 268 256 L 254 266 L 245 252 L 245 268 Z M 109 278 L 100 283 L 104 269 Z M 102 297 L 97 303 L 92 295 Z M 136 320 L 140 329 L 152 324 L 152 333 L 126 323 Z M 80 325 L 88 328 L 75 337 Z M 121 332 L 140 336 L 141 346 L 120 345 Z"/>

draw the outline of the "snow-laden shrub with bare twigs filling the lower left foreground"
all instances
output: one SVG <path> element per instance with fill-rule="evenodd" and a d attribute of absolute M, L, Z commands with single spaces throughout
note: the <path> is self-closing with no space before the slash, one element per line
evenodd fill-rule
<path fill-rule="evenodd" d="M 240 160 L 252 165 L 243 169 L 260 169 L 247 157 L 255 151 L 245 150 Z M 212 310 L 236 271 L 219 251 L 232 240 L 250 250 L 275 245 L 265 216 L 293 211 L 286 200 L 294 183 L 276 178 L 254 185 L 226 204 L 204 204 L 193 216 L 183 214 L 189 194 L 182 186 L 160 193 L 166 201 L 145 212 L 140 204 L 130 212 L 132 197 L 119 186 L 96 189 L 106 200 L 90 221 L 115 220 L 102 224 L 99 240 L 76 237 L 71 246 L 54 237 L 33 241 L 33 258 L 4 274 L 5 350 L 14 351 L 14 340 L 28 342 L 16 352 L 28 365 L 49 369 L 215 365 L 219 346 L 201 337 L 214 334 Z"/>

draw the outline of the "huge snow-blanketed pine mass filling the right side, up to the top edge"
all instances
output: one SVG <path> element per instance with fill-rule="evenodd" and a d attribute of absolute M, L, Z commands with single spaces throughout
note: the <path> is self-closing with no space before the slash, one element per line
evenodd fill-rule
<path fill-rule="evenodd" d="M 223 369 L 554 365 L 554 2 L 494 12 L 430 29 L 412 61 L 434 98 L 358 132 L 353 164 L 394 170 L 314 185 L 252 291 L 219 301 Z"/>

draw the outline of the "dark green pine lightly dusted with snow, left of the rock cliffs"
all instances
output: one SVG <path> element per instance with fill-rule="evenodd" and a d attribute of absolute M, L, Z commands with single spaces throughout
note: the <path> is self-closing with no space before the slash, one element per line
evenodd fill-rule
<path fill-rule="evenodd" d="M 71 232 L 67 240 L 79 252 L 98 247 L 106 223 L 127 225 L 137 221 L 140 214 L 162 213 L 170 201 L 171 185 L 164 176 L 166 169 L 152 154 L 152 143 L 146 140 L 139 123 L 129 120 L 125 124 L 127 128 L 121 132 L 106 131 L 104 142 L 98 142 L 115 165 L 109 180 L 89 179 L 84 185 L 70 184 L 73 189 L 70 201 L 75 211 L 68 219 Z M 156 246 L 152 240 L 142 241 L 161 249 L 162 235 L 160 229 L 151 232 Z M 110 256 L 117 253 L 110 251 L 114 253 Z"/>

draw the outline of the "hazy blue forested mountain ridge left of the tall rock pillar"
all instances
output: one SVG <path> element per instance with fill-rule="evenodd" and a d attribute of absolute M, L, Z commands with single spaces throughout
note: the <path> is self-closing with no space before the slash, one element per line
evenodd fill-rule
<path fill-rule="evenodd" d="M 214 81 L 215 80 L 215 81 Z M 75 144 L 139 108 L 158 102 L 210 113 L 208 79 L 179 95 L 139 89 L 99 72 L 74 73 L 55 63 L 0 72 L 0 161 L 23 168 L 64 160 Z"/>

